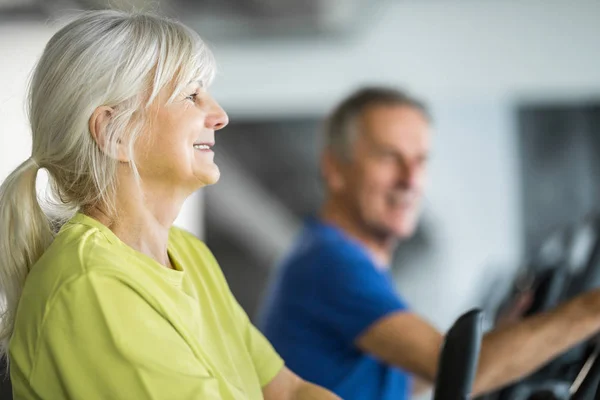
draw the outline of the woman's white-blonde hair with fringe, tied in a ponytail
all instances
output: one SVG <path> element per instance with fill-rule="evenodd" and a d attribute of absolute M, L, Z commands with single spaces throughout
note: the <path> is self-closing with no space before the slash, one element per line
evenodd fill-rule
<path fill-rule="evenodd" d="M 173 88 L 171 102 L 192 81 L 207 86 L 214 65 L 194 31 L 147 13 L 86 12 L 50 39 L 29 86 L 31 158 L 0 186 L 0 357 L 8 351 L 25 278 L 58 229 L 86 207 L 116 212 L 118 161 L 107 154 L 126 139 L 133 160 L 159 91 Z M 104 151 L 88 125 L 99 106 L 114 109 Z M 40 168 L 48 171 L 53 195 L 43 203 L 36 194 Z"/>

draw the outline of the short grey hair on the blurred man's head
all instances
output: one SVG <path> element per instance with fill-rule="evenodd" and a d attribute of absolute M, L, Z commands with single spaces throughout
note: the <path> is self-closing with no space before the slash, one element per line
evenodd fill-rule
<path fill-rule="evenodd" d="M 325 148 L 341 160 L 349 160 L 357 136 L 357 120 L 373 106 L 407 106 L 423 113 L 430 121 L 427 107 L 408 93 L 390 87 L 363 87 L 343 100 L 325 121 Z"/>

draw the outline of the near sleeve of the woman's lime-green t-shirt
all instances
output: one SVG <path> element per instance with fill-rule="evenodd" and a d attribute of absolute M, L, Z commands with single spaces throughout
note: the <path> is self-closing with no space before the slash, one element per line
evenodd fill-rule
<path fill-rule="evenodd" d="M 219 399 L 218 382 L 125 282 L 91 273 L 48 304 L 30 376 L 45 399 Z"/>

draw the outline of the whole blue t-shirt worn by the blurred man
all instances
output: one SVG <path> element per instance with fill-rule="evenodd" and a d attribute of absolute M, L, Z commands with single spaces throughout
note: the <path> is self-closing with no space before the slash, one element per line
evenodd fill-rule
<path fill-rule="evenodd" d="M 300 377 L 347 400 L 404 400 L 411 380 L 360 351 L 355 339 L 406 310 L 388 273 L 334 226 L 309 220 L 278 269 L 258 326 Z"/>

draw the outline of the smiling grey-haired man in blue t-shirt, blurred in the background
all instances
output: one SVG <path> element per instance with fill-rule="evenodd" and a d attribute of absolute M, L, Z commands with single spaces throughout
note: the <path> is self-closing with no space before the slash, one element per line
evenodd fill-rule
<path fill-rule="evenodd" d="M 408 399 L 433 383 L 443 336 L 395 292 L 396 244 L 417 225 L 431 142 L 426 107 L 365 88 L 328 118 L 326 199 L 273 280 L 259 327 L 302 378 L 347 400 Z M 600 330 L 600 291 L 485 335 L 474 394 L 526 376 Z"/>

